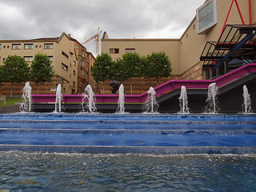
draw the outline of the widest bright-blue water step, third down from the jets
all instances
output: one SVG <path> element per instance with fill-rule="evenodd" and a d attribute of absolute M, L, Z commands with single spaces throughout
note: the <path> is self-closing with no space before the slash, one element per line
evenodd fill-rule
<path fill-rule="evenodd" d="M 254 134 L 1 134 L 2 145 L 256 146 Z"/>

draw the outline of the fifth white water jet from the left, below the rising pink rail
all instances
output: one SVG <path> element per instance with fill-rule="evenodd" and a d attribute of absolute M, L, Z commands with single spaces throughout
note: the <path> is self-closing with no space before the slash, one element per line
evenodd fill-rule
<path fill-rule="evenodd" d="M 150 87 L 150 89 L 147 91 L 147 98 L 146 102 L 144 103 L 144 108 L 146 113 L 156 113 L 158 112 L 158 102 L 155 100 L 155 90 L 153 87 Z"/>

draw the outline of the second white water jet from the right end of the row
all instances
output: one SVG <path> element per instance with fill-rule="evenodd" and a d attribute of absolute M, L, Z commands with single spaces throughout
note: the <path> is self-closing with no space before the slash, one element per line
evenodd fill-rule
<path fill-rule="evenodd" d="M 216 113 L 218 110 L 218 102 L 217 102 L 217 95 L 218 95 L 218 86 L 216 82 L 211 83 L 208 86 L 208 94 L 207 94 L 207 106 L 206 112 L 208 113 Z"/>

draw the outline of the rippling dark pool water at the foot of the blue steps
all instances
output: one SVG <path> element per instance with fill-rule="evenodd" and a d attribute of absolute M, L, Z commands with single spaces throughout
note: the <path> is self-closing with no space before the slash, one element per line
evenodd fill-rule
<path fill-rule="evenodd" d="M 0 152 L 0 191 L 254 191 L 255 154 Z"/>

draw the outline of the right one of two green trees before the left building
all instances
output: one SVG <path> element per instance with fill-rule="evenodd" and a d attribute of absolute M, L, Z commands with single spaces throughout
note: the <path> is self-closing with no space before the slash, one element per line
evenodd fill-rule
<path fill-rule="evenodd" d="M 34 55 L 34 61 L 31 64 L 30 79 L 38 86 L 45 82 L 52 82 L 54 77 L 54 66 L 51 65 L 50 58 L 46 54 Z"/>

